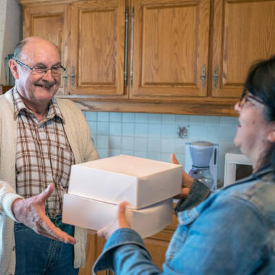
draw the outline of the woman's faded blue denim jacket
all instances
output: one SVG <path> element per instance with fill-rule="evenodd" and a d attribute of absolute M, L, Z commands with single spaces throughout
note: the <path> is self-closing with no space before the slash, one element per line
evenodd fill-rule
<path fill-rule="evenodd" d="M 265 168 L 184 210 L 166 252 L 163 272 L 140 236 L 116 230 L 93 272 L 137 274 L 275 274 L 275 182 Z M 184 207 L 183 207 L 184 208 Z"/>

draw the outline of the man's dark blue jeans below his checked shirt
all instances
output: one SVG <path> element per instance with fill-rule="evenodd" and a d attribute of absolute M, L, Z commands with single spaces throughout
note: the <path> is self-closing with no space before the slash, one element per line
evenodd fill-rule
<path fill-rule="evenodd" d="M 61 230 L 74 236 L 74 226 L 61 223 Z M 15 275 L 76 275 L 74 245 L 54 241 L 34 230 L 14 223 L 16 267 Z"/>

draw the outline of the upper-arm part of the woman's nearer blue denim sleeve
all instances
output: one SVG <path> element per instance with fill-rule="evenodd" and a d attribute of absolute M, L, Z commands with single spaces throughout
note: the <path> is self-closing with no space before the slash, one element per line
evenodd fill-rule
<path fill-rule="evenodd" d="M 184 223 L 179 213 L 175 239 L 181 245 L 164 263 L 164 274 L 254 274 L 268 261 L 268 225 L 259 209 L 234 196 L 205 204 L 194 221 Z"/>

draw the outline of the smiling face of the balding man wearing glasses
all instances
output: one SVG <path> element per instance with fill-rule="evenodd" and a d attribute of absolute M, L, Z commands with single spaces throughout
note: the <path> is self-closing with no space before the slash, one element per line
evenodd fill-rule
<path fill-rule="evenodd" d="M 56 47 L 42 39 L 28 41 L 18 60 L 29 67 L 52 68 L 61 64 Z M 36 74 L 19 63 L 17 63 L 17 76 L 17 89 L 27 105 L 50 102 L 61 81 L 61 76 L 53 76 L 51 70 L 44 75 Z"/>

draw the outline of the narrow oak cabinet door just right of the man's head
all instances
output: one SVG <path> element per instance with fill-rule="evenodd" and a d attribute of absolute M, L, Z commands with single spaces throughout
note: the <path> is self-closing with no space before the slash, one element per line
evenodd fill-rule
<path fill-rule="evenodd" d="M 72 3 L 70 94 L 108 98 L 124 94 L 125 1 Z"/>

